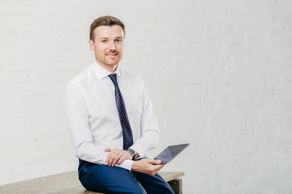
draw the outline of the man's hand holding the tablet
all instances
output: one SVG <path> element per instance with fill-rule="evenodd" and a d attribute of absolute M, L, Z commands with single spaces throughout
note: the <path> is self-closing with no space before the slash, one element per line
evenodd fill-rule
<path fill-rule="evenodd" d="M 160 160 L 153 160 L 150 158 L 141 159 L 140 161 L 133 162 L 132 171 L 142 172 L 148 175 L 155 175 L 165 165 L 160 163 Z"/>

